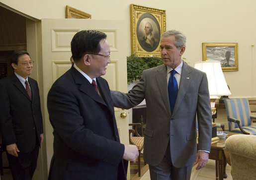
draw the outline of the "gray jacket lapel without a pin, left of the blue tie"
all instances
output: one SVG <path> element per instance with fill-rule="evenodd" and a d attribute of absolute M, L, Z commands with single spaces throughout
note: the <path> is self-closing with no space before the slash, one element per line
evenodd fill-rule
<path fill-rule="evenodd" d="M 163 99 L 163 102 L 166 106 L 166 110 L 171 116 L 171 107 L 168 96 L 168 87 L 167 87 L 167 67 L 166 65 L 162 65 L 159 69 L 159 73 L 156 75 L 156 80 L 158 84 L 158 89 Z"/>

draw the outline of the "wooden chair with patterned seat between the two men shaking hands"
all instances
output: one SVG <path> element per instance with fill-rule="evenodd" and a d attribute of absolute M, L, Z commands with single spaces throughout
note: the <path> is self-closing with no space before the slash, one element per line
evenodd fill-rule
<path fill-rule="evenodd" d="M 131 125 L 134 126 L 135 128 L 134 129 L 129 129 L 129 141 L 130 141 L 130 144 L 136 145 L 138 150 L 139 150 L 138 175 L 140 177 L 141 176 L 141 151 L 143 150 L 144 137 L 141 137 L 141 135 L 138 133 L 138 127 L 141 126 L 141 123 L 131 123 L 131 124 L 129 124 L 129 126 L 131 126 Z M 132 133 L 135 133 L 136 136 L 132 136 L 131 135 Z"/>

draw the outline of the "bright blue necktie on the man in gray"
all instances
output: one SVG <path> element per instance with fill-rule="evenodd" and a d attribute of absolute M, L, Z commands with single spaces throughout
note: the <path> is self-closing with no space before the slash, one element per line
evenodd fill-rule
<path fill-rule="evenodd" d="M 177 94 L 178 94 L 178 84 L 177 84 L 176 78 L 174 77 L 175 73 L 176 71 L 173 69 L 171 71 L 171 76 L 168 83 L 168 94 L 169 94 L 169 101 L 171 106 L 171 113 L 174 109 L 174 105 L 175 105 Z"/>

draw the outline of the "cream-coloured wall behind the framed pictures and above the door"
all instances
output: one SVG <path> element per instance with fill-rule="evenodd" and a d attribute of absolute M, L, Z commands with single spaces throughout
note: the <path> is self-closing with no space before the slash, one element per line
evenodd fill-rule
<path fill-rule="evenodd" d="M 202 60 L 202 43 L 238 43 L 239 71 L 224 72 L 230 97 L 256 97 L 255 0 L 0 0 L 37 19 L 65 18 L 66 5 L 93 19 L 125 19 L 130 26 L 130 4 L 166 10 L 167 30 L 187 36 L 183 57 L 190 65 Z M 130 32 L 127 43 L 130 42 Z M 255 45 L 255 47 L 252 47 Z M 254 82 L 254 83 L 253 83 Z"/>

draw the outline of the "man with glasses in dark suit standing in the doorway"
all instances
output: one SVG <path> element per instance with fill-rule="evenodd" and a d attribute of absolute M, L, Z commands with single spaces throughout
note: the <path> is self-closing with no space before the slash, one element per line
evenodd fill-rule
<path fill-rule="evenodd" d="M 14 73 L 0 80 L 0 130 L 13 180 L 31 180 L 44 138 L 39 89 L 27 52 L 10 61 Z"/>

